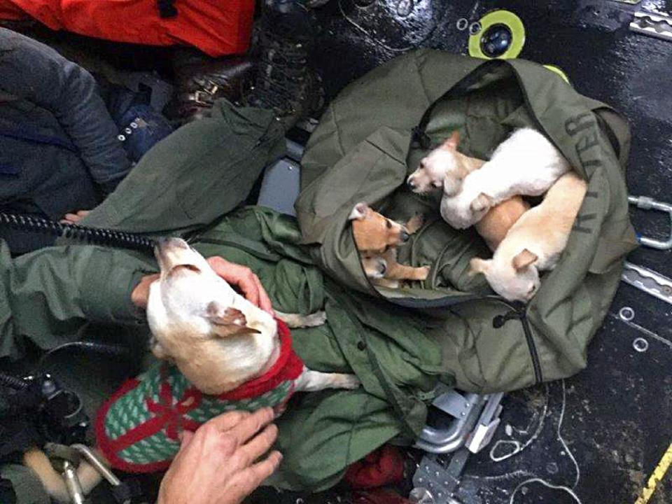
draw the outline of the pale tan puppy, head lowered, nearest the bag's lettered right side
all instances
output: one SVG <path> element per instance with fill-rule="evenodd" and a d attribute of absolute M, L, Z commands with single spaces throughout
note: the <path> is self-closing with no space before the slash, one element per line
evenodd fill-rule
<path fill-rule="evenodd" d="M 561 176 L 541 204 L 512 226 L 492 259 L 471 260 L 472 274 L 483 273 L 507 300 L 530 300 L 540 286 L 539 272 L 553 269 L 560 259 L 585 193 L 580 176 Z"/>

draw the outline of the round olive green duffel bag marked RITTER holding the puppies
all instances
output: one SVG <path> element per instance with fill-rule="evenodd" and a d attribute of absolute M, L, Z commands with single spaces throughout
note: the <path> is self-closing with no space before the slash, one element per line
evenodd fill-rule
<path fill-rule="evenodd" d="M 461 131 L 460 151 L 489 159 L 518 127 L 545 134 L 588 181 L 566 250 L 527 305 L 469 276 L 470 259 L 488 257 L 489 249 L 474 230 L 442 221 L 440 195 L 421 197 L 405 184 L 453 130 Z M 636 247 L 624 183 L 629 142 L 615 111 L 543 66 L 417 50 L 346 87 L 323 115 L 302 160 L 296 210 L 303 242 L 345 286 L 443 321 L 444 365 L 459 387 L 511 390 L 567 377 L 585 367 L 624 255 Z M 397 221 L 428 216 L 399 251 L 400 262 L 430 265 L 426 281 L 398 290 L 370 284 L 348 221 L 361 201 Z"/>

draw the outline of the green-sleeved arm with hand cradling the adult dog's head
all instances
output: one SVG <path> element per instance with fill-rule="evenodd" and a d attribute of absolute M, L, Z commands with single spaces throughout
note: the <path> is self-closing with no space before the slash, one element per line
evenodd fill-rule
<path fill-rule="evenodd" d="M 249 268 L 218 257 L 208 262 L 248 300 L 272 312 Z M 42 349 L 71 341 L 87 321 L 145 323 L 156 269 L 149 255 L 97 246 L 50 247 L 11 258 L 0 241 L 0 358 L 20 358 L 24 338 Z"/>

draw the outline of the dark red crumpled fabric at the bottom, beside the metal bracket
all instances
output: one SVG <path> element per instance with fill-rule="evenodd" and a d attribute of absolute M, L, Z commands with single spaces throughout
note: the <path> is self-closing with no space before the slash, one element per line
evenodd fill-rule
<path fill-rule="evenodd" d="M 353 489 L 365 489 L 397 483 L 403 478 L 404 457 L 398 449 L 386 444 L 351 464 L 344 480 Z"/>

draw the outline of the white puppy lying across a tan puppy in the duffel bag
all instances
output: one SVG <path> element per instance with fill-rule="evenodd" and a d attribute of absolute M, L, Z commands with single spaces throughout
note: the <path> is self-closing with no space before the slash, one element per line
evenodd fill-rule
<path fill-rule="evenodd" d="M 517 130 L 496 148 L 489 162 L 465 177 L 461 192 L 444 194 L 441 216 L 453 228 L 469 228 L 514 195 L 542 195 L 569 169 L 546 137 L 530 128 Z"/>

